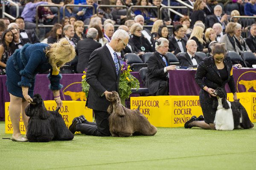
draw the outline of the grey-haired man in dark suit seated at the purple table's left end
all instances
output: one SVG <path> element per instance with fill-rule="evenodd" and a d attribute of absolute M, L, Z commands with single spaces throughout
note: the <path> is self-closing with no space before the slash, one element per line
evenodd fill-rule
<path fill-rule="evenodd" d="M 168 71 L 176 69 L 176 65 L 169 65 L 165 56 L 169 49 L 168 46 L 169 41 L 166 38 L 159 38 L 156 43 L 156 51 L 148 59 L 145 87 L 148 88 L 149 95 L 168 95 Z"/>

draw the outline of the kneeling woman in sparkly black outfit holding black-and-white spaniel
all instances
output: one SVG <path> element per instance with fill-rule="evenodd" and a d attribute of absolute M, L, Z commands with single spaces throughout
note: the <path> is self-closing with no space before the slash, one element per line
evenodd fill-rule
<path fill-rule="evenodd" d="M 225 56 L 225 44 L 216 43 L 212 47 L 212 56 L 204 59 L 195 74 L 195 81 L 201 88 L 199 100 L 204 114 L 204 121 L 198 121 L 195 116 L 185 123 L 185 128 L 201 127 L 215 130 L 214 119 L 216 110 L 212 103 L 216 95 L 214 89 L 225 88 L 226 83 L 233 93 L 233 99 L 237 100 L 236 86 L 232 75 L 232 62 Z"/>

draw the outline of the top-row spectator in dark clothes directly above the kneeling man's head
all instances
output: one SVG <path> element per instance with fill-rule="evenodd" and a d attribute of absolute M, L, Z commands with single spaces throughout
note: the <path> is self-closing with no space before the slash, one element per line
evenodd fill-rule
<path fill-rule="evenodd" d="M 125 6 L 125 3 L 123 2 L 123 0 L 116 0 L 115 5 L 118 6 Z M 122 7 L 116 7 L 113 8 L 112 12 L 111 12 L 114 21 L 116 21 L 116 24 L 118 25 L 123 25 L 125 23 L 126 17 L 127 17 L 127 10 L 125 8 Z"/>

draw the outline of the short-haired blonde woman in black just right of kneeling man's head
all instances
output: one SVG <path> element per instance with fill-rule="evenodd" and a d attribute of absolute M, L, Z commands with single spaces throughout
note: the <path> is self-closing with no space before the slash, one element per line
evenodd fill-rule
<path fill-rule="evenodd" d="M 131 26 L 131 41 L 139 50 L 143 52 L 152 52 L 153 49 L 150 42 L 142 36 L 142 29 L 143 26 L 141 26 L 140 23 L 135 23 Z"/>

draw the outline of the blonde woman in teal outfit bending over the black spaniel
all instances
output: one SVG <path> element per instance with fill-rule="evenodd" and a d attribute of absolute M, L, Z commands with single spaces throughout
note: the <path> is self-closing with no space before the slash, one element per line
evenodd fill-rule
<path fill-rule="evenodd" d="M 12 141 L 26 142 L 20 134 L 20 113 L 27 131 L 28 117 L 25 108 L 33 102 L 35 75 L 50 70 L 49 88 L 53 92 L 57 107 L 62 107 L 59 90 L 61 75 L 59 68 L 76 56 L 75 48 L 66 38 L 48 45 L 44 43 L 26 44 L 8 59 L 6 67 L 7 90 L 10 94 L 9 115 L 12 121 Z"/>

